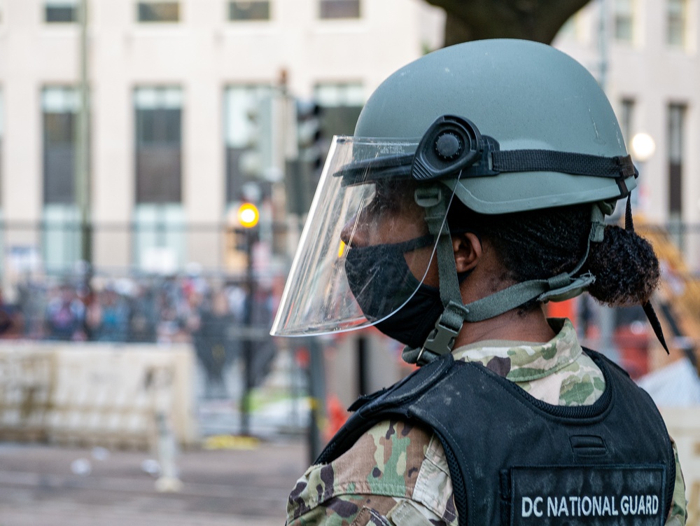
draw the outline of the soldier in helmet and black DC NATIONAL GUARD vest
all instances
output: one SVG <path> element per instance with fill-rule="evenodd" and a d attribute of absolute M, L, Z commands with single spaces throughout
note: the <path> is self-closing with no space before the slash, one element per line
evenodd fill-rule
<path fill-rule="evenodd" d="M 463 43 L 379 85 L 330 149 L 272 332 L 372 325 L 421 367 L 353 404 L 289 525 L 685 523 L 650 397 L 542 310 L 641 304 L 663 342 L 637 174 L 595 79 L 549 46 Z M 605 224 L 621 198 L 626 227 Z"/>

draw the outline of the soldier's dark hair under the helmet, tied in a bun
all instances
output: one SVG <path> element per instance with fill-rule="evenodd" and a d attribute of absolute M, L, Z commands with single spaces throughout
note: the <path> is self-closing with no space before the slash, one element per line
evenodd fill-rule
<path fill-rule="evenodd" d="M 506 269 L 505 279 L 524 282 L 574 270 L 586 251 L 591 206 L 486 215 L 454 202 L 448 221 L 453 232 L 472 230 L 491 244 Z M 611 307 L 646 303 L 659 282 L 659 261 L 651 244 L 615 225 L 605 226 L 602 242 L 591 242 L 581 271 L 596 277 L 590 295 Z M 519 310 L 536 305 L 532 300 Z"/>

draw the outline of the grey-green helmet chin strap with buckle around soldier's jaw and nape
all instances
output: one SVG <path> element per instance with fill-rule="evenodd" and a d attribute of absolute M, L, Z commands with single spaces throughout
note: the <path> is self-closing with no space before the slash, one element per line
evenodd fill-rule
<path fill-rule="evenodd" d="M 449 354 L 465 321 L 475 322 L 493 318 L 533 299 L 537 299 L 539 302 L 548 300 L 561 301 L 573 298 L 586 291 L 595 282 L 596 278 L 590 272 L 585 272 L 578 276 L 577 273 L 588 258 L 591 242 L 601 242 L 603 240 L 605 215 L 612 214 L 613 209 L 613 205 L 607 202 L 598 202 L 592 205 L 591 231 L 586 251 L 571 272 L 562 272 L 549 279 L 531 279 L 517 283 L 490 296 L 464 305 L 459 289 L 451 235 L 446 219 L 449 203 L 444 196 L 443 188 L 437 185 L 419 188 L 416 190 L 415 200 L 418 205 L 425 209 L 428 230 L 437 239 L 436 255 L 437 270 L 440 277 L 440 300 L 442 300 L 442 305 L 444 306 L 444 311 L 435 322 L 435 329 L 428 335 L 428 338 L 423 343 L 423 347 L 420 349 L 406 347 L 402 353 L 402 358 L 405 361 L 409 364 L 418 365 L 427 364 L 437 357 Z M 626 228 L 629 230 L 631 228 L 629 200 L 627 210 Z M 644 308 L 645 312 L 651 310 L 650 303 L 647 302 Z M 653 314 L 653 310 L 651 312 Z M 654 324 L 655 314 L 653 319 L 648 312 L 647 316 L 652 322 L 654 332 L 657 333 L 657 336 L 660 334 L 659 340 L 666 348 L 658 321 Z M 659 326 L 659 330 L 657 330 L 657 326 Z"/>

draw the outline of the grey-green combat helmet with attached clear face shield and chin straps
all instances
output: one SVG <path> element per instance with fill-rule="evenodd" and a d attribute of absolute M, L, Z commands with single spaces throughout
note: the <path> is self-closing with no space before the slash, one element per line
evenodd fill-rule
<path fill-rule="evenodd" d="M 334 138 L 272 334 L 372 325 L 384 331 L 401 318 L 399 311 L 408 311 L 432 317 L 424 340 L 402 340 L 413 348 L 410 361 L 450 352 L 464 321 L 489 319 L 533 299 L 573 298 L 595 280 L 581 272 L 586 253 L 570 272 L 463 305 L 446 221 L 451 200 L 479 214 L 590 203 L 589 243 L 599 242 L 618 199 L 628 198 L 631 218 L 636 177 L 605 93 L 568 55 L 518 40 L 430 53 L 379 85 L 352 137 Z M 395 197 L 403 194 L 410 202 Z M 396 213 L 420 207 L 429 235 L 405 240 L 400 226 L 382 219 L 389 205 Z M 360 233 L 384 251 L 354 248 Z M 386 241 L 392 239 L 403 241 Z M 432 258 L 421 256 L 430 250 Z M 439 291 L 423 284 L 432 259 Z M 438 299 L 426 312 L 420 298 L 428 293 Z M 650 312 L 654 324 L 649 305 Z M 662 340 L 658 322 L 654 328 Z"/>

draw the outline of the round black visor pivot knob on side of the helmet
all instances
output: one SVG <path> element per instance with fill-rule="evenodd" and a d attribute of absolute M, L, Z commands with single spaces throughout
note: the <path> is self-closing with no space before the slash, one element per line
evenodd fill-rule
<path fill-rule="evenodd" d="M 411 176 L 426 181 L 454 175 L 477 162 L 481 154 L 482 138 L 476 125 L 463 117 L 443 115 L 423 134 Z"/>

